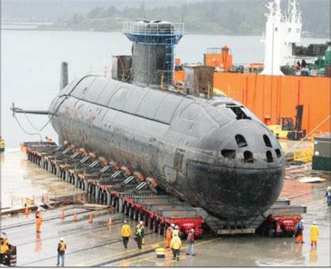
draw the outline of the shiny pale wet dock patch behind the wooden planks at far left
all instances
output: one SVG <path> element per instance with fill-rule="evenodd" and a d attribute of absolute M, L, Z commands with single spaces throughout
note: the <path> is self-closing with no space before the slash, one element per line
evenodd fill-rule
<path fill-rule="evenodd" d="M 55 198 L 83 194 L 59 177 L 27 160 L 20 150 L 10 150 L 1 154 L 1 208 L 3 210 L 24 207 L 26 198 L 34 198 L 41 203 L 42 196 Z"/>

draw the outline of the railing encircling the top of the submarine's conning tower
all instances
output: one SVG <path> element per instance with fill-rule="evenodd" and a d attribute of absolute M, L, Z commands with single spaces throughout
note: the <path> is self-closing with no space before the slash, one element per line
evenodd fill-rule
<path fill-rule="evenodd" d="M 153 36 L 183 36 L 184 23 L 123 22 L 123 33 Z"/>

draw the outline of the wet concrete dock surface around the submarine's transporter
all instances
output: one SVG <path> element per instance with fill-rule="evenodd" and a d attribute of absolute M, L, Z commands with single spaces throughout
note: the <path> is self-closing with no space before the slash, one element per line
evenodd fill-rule
<path fill-rule="evenodd" d="M 27 190 L 29 195 L 36 196 L 55 190 L 63 195 L 82 192 L 36 168 L 20 153 L 7 152 L 5 158 L 5 166 L 1 161 L 1 194 L 23 191 L 21 196 L 25 196 Z M 15 180 L 10 184 L 12 178 Z M 324 198 L 329 184 L 330 179 L 314 184 L 300 183 L 295 178 L 285 180 L 281 198 L 290 198 L 292 204 L 301 203 L 308 207 L 304 215 L 306 243 L 302 245 L 295 244 L 293 238 L 206 236 L 196 240 L 196 256 L 184 254 L 184 242 L 179 261 L 172 260 L 170 251 L 165 252 L 165 259 L 158 259 L 155 249 L 164 246 L 163 236 L 147 229 L 146 244 L 142 249 L 137 248 L 132 238 L 128 249 L 124 249 L 120 228 L 125 215 L 109 210 L 94 211 L 93 223 L 89 224 L 90 211 L 78 205 L 45 210 L 40 234 L 35 232 L 33 213 L 1 217 L 1 231 L 6 232 L 10 243 L 17 246 L 17 266 L 55 266 L 61 236 L 67 244 L 66 266 L 330 266 L 330 208 Z M 64 189 L 66 191 L 62 193 Z M 65 212 L 64 219 L 60 218 L 61 210 Z M 75 213 L 78 221 L 73 221 Z M 110 217 L 112 225 L 108 225 Z M 309 228 L 313 221 L 317 221 L 320 228 L 316 248 L 309 242 Z M 137 224 L 131 219 L 128 222 L 131 228 Z"/>

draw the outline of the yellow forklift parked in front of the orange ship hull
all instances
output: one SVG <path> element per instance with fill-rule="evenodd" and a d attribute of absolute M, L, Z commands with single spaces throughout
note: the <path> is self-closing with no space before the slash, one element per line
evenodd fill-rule
<path fill-rule="evenodd" d="M 278 139 L 301 140 L 306 136 L 306 130 L 302 130 L 303 105 L 295 107 L 295 126 L 291 117 L 282 117 L 281 125 L 269 125 L 269 129 Z"/>

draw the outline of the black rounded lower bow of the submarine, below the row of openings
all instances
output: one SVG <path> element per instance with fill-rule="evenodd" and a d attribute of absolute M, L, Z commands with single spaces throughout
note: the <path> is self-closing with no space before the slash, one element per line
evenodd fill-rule
<path fill-rule="evenodd" d="M 284 184 L 283 167 L 243 169 L 188 163 L 187 189 L 191 203 L 212 215 L 240 219 L 262 214 L 277 201 Z"/>

